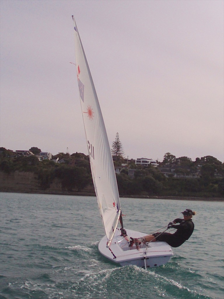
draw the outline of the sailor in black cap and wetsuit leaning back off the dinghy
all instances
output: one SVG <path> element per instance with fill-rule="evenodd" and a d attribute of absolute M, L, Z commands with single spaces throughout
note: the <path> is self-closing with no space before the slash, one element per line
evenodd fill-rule
<path fill-rule="evenodd" d="M 132 246 L 134 243 L 138 247 L 139 243 L 145 242 L 155 242 L 155 241 L 163 241 L 167 242 L 172 247 L 179 247 L 182 245 L 186 240 L 191 237 L 191 234 L 194 231 L 194 223 L 192 222 L 191 218 L 196 212 L 193 212 L 190 209 L 186 209 L 185 211 L 181 212 L 184 216 L 184 219 L 177 218 L 173 222 L 168 224 L 168 228 L 175 228 L 177 231 L 174 234 L 170 233 L 155 233 L 152 235 L 147 235 L 142 238 L 131 238 L 132 241 L 130 242 L 129 246 Z M 178 225 L 175 225 L 179 223 Z"/>

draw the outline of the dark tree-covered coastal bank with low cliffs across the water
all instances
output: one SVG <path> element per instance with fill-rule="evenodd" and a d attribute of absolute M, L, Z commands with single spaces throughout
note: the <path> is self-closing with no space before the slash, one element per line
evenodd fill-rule
<path fill-rule="evenodd" d="M 224 166 L 212 156 L 192 161 L 166 153 L 157 167 L 120 155 L 113 160 L 121 197 L 223 200 Z M 39 161 L 36 154 L 15 155 L 1 147 L 0 191 L 95 196 L 89 157 L 59 153 Z"/>

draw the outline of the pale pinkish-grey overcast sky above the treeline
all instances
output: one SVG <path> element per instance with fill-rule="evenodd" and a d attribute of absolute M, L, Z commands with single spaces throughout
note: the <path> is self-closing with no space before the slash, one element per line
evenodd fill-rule
<path fill-rule="evenodd" d="M 73 21 L 109 143 L 224 161 L 224 1 L 1 0 L 0 147 L 88 154 Z"/>

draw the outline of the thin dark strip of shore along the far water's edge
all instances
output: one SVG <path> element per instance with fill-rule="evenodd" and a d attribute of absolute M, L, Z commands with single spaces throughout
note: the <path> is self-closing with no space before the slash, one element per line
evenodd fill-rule
<path fill-rule="evenodd" d="M 0 192 L 5 193 L 27 193 L 27 194 L 46 194 L 46 195 L 68 195 L 68 196 L 93 196 L 96 197 L 95 193 L 85 192 L 85 191 L 60 191 L 60 192 L 47 192 L 42 190 L 35 191 L 12 191 L 12 190 L 0 190 Z M 214 201 L 214 202 L 224 202 L 222 197 L 183 197 L 183 196 L 148 196 L 148 195 L 120 195 L 120 198 L 139 198 L 139 199 L 172 199 L 172 200 L 192 200 L 192 201 Z"/>

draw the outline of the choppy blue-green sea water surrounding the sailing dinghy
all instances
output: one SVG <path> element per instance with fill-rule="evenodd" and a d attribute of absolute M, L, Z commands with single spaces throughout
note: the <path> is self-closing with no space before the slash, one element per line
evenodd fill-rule
<path fill-rule="evenodd" d="M 102 257 L 95 197 L 1 193 L 0 298 L 223 299 L 223 202 L 121 199 L 125 228 L 151 233 L 190 208 L 195 230 L 164 266 Z"/>

